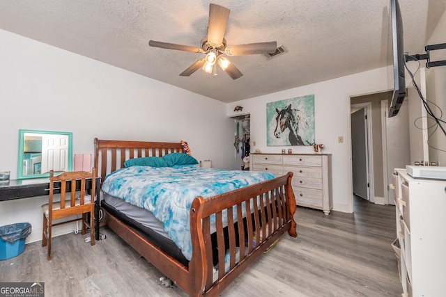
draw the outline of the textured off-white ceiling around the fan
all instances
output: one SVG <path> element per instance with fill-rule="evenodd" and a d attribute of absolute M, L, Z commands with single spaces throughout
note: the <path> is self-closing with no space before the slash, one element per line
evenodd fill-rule
<path fill-rule="evenodd" d="M 231 56 L 233 80 L 178 74 L 203 54 L 148 46 L 200 47 L 209 3 L 231 10 L 228 45 L 277 41 L 287 52 Z M 222 102 L 234 102 L 388 65 L 390 0 L 0 0 L 0 29 L 121 67 Z M 400 0 L 404 49 L 424 53 L 445 0 Z"/>

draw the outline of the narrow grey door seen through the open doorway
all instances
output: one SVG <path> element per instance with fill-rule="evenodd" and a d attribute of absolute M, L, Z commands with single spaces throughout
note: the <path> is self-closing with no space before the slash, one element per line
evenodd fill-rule
<path fill-rule="evenodd" d="M 367 139 L 367 119 L 365 109 L 361 108 L 351 113 L 353 193 L 370 200 Z"/>

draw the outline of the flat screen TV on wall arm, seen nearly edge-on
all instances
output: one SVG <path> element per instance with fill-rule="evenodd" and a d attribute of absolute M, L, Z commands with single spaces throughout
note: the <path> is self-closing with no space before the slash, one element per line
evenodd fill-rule
<path fill-rule="evenodd" d="M 389 118 L 398 114 L 406 97 L 406 79 L 404 74 L 403 19 L 398 0 L 390 0 L 390 35 L 393 58 L 394 90 L 389 98 Z"/>

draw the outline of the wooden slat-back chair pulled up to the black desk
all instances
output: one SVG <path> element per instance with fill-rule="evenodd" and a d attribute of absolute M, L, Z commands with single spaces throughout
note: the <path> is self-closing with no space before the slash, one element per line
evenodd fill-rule
<path fill-rule="evenodd" d="M 43 210 L 43 234 L 42 246 L 48 246 L 48 261 L 51 260 L 51 236 L 52 227 L 56 225 L 66 224 L 82 220 L 82 234 L 86 233 L 86 227 L 90 228 L 90 242 L 91 246 L 95 244 L 95 168 L 91 172 L 86 171 L 71 171 L 63 172 L 60 175 L 54 176 L 53 170 L 49 173 L 49 202 L 42 205 Z M 85 199 L 86 196 L 86 179 L 91 179 L 91 199 Z M 54 182 L 60 182 L 61 201 L 54 202 L 54 190 L 59 190 L 59 187 L 54 187 Z M 76 195 L 76 184 L 80 184 L 80 193 Z M 78 187 L 79 188 L 79 187 Z M 79 191 L 79 190 L 78 190 Z M 68 196 L 66 198 L 66 196 Z M 75 218 L 72 220 L 65 220 L 61 223 L 53 223 L 53 220 L 59 218 L 66 218 L 69 216 L 77 216 L 82 214 L 82 218 Z M 87 221 L 87 214 L 90 214 L 89 221 Z"/>

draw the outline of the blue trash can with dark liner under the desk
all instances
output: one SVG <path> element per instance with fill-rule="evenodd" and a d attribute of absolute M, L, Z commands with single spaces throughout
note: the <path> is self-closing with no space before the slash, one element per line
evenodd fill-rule
<path fill-rule="evenodd" d="M 16 257 L 25 249 L 26 237 L 31 234 L 30 223 L 15 223 L 0 227 L 0 260 Z"/>

